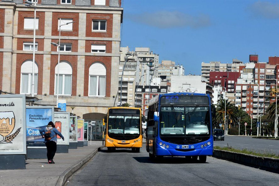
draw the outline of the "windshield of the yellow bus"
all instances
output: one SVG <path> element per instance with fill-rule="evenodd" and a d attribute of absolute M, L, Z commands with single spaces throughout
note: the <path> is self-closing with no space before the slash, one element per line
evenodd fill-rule
<path fill-rule="evenodd" d="M 109 116 L 109 134 L 140 134 L 140 116 Z"/>

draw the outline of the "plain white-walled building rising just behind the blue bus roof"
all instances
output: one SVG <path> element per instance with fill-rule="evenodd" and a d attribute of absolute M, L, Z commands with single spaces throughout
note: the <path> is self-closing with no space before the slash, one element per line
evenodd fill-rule
<path fill-rule="evenodd" d="M 207 93 L 213 98 L 213 88 L 203 76 L 171 76 L 170 92 Z"/>

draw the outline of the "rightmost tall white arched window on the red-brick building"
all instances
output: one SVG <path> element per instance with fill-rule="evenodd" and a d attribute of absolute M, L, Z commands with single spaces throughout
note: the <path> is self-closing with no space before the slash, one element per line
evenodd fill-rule
<path fill-rule="evenodd" d="M 100 62 L 90 66 L 88 96 L 106 96 L 106 71 Z"/>

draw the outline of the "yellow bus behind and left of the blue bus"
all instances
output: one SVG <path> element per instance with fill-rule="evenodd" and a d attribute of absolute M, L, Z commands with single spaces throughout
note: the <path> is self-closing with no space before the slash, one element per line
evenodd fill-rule
<path fill-rule="evenodd" d="M 142 122 L 145 117 L 140 108 L 111 107 L 105 117 L 105 147 L 108 151 L 116 148 L 131 148 L 140 152 L 142 147 Z"/>

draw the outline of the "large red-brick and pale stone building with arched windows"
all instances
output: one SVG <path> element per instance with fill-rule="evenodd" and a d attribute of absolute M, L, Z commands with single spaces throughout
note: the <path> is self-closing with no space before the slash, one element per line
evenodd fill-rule
<path fill-rule="evenodd" d="M 61 26 L 59 99 L 83 119 L 99 119 L 116 106 L 120 61 L 120 0 L 38 0 L 35 94 L 56 105 Z M 0 90 L 31 94 L 34 8 L 0 0 Z"/>

